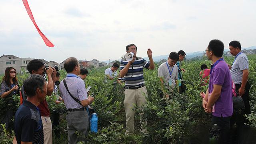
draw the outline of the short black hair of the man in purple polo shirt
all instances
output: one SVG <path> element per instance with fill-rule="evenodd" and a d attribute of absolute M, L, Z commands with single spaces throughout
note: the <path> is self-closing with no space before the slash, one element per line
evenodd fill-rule
<path fill-rule="evenodd" d="M 213 39 L 209 42 L 208 50 L 217 57 L 222 57 L 224 51 L 224 44 L 218 39 Z"/>

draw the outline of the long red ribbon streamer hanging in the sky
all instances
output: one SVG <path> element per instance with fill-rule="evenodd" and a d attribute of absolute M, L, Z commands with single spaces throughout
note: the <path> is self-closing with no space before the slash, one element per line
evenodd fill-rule
<path fill-rule="evenodd" d="M 40 31 L 39 27 L 36 25 L 36 21 L 33 17 L 33 14 L 30 10 L 30 7 L 28 5 L 28 0 L 22 0 L 27 12 L 28 12 L 28 16 L 30 17 L 30 19 L 32 20 L 32 22 L 34 23 L 36 30 L 38 31 L 38 33 L 40 34 L 40 36 L 42 37 L 42 39 L 44 40 L 44 43 L 48 46 L 48 47 L 54 47 L 54 45 L 49 41 L 49 39 L 47 39 L 46 36 L 44 36 L 44 34 L 42 33 L 42 31 Z"/>

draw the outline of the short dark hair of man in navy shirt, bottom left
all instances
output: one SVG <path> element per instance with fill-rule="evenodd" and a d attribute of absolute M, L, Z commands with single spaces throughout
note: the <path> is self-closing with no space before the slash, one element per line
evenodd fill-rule
<path fill-rule="evenodd" d="M 39 74 L 32 74 L 31 76 L 29 76 L 23 82 L 23 88 L 26 95 L 28 95 L 28 97 L 34 96 L 36 94 L 37 88 L 40 88 L 43 91 L 44 82 L 46 82 L 46 80 L 44 79 L 43 76 Z"/>

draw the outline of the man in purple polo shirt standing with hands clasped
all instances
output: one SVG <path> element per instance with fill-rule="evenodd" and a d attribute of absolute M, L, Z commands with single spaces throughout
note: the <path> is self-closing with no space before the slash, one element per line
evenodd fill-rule
<path fill-rule="evenodd" d="M 206 55 L 212 60 L 209 87 L 203 98 L 204 111 L 212 113 L 212 124 L 220 128 L 219 144 L 227 144 L 230 133 L 230 118 L 233 113 L 232 78 L 228 64 L 222 58 L 224 44 L 210 41 Z"/>

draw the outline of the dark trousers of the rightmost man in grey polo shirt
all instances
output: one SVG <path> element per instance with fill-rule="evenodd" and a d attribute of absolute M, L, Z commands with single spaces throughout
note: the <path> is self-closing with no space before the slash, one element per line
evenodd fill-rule
<path fill-rule="evenodd" d="M 237 93 L 238 93 L 238 90 L 241 88 L 241 85 L 242 84 L 236 84 Z M 250 114 L 251 112 L 250 112 L 250 103 L 249 103 L 249 90 L 250 90 L 249 82 L 246 83 L 244 90 L 245 90 L 245 93 L 244 95 L 242 95 L 242 99 L 244 100 L 244 105 L 245 105 L 244 114 Z"/>

